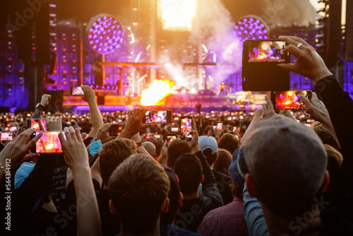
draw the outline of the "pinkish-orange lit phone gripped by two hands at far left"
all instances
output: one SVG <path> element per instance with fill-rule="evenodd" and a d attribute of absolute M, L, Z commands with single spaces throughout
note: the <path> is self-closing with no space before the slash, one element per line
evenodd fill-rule
<path fill-rule="evenodd" d="M 59 134 L 63 131 L 35 131 L 35 136 L 42 133 L 42 137 L 35 143 L 32 153 L 63 153 Z M 65 135 L 64 135 L 65 137 Z"/>

